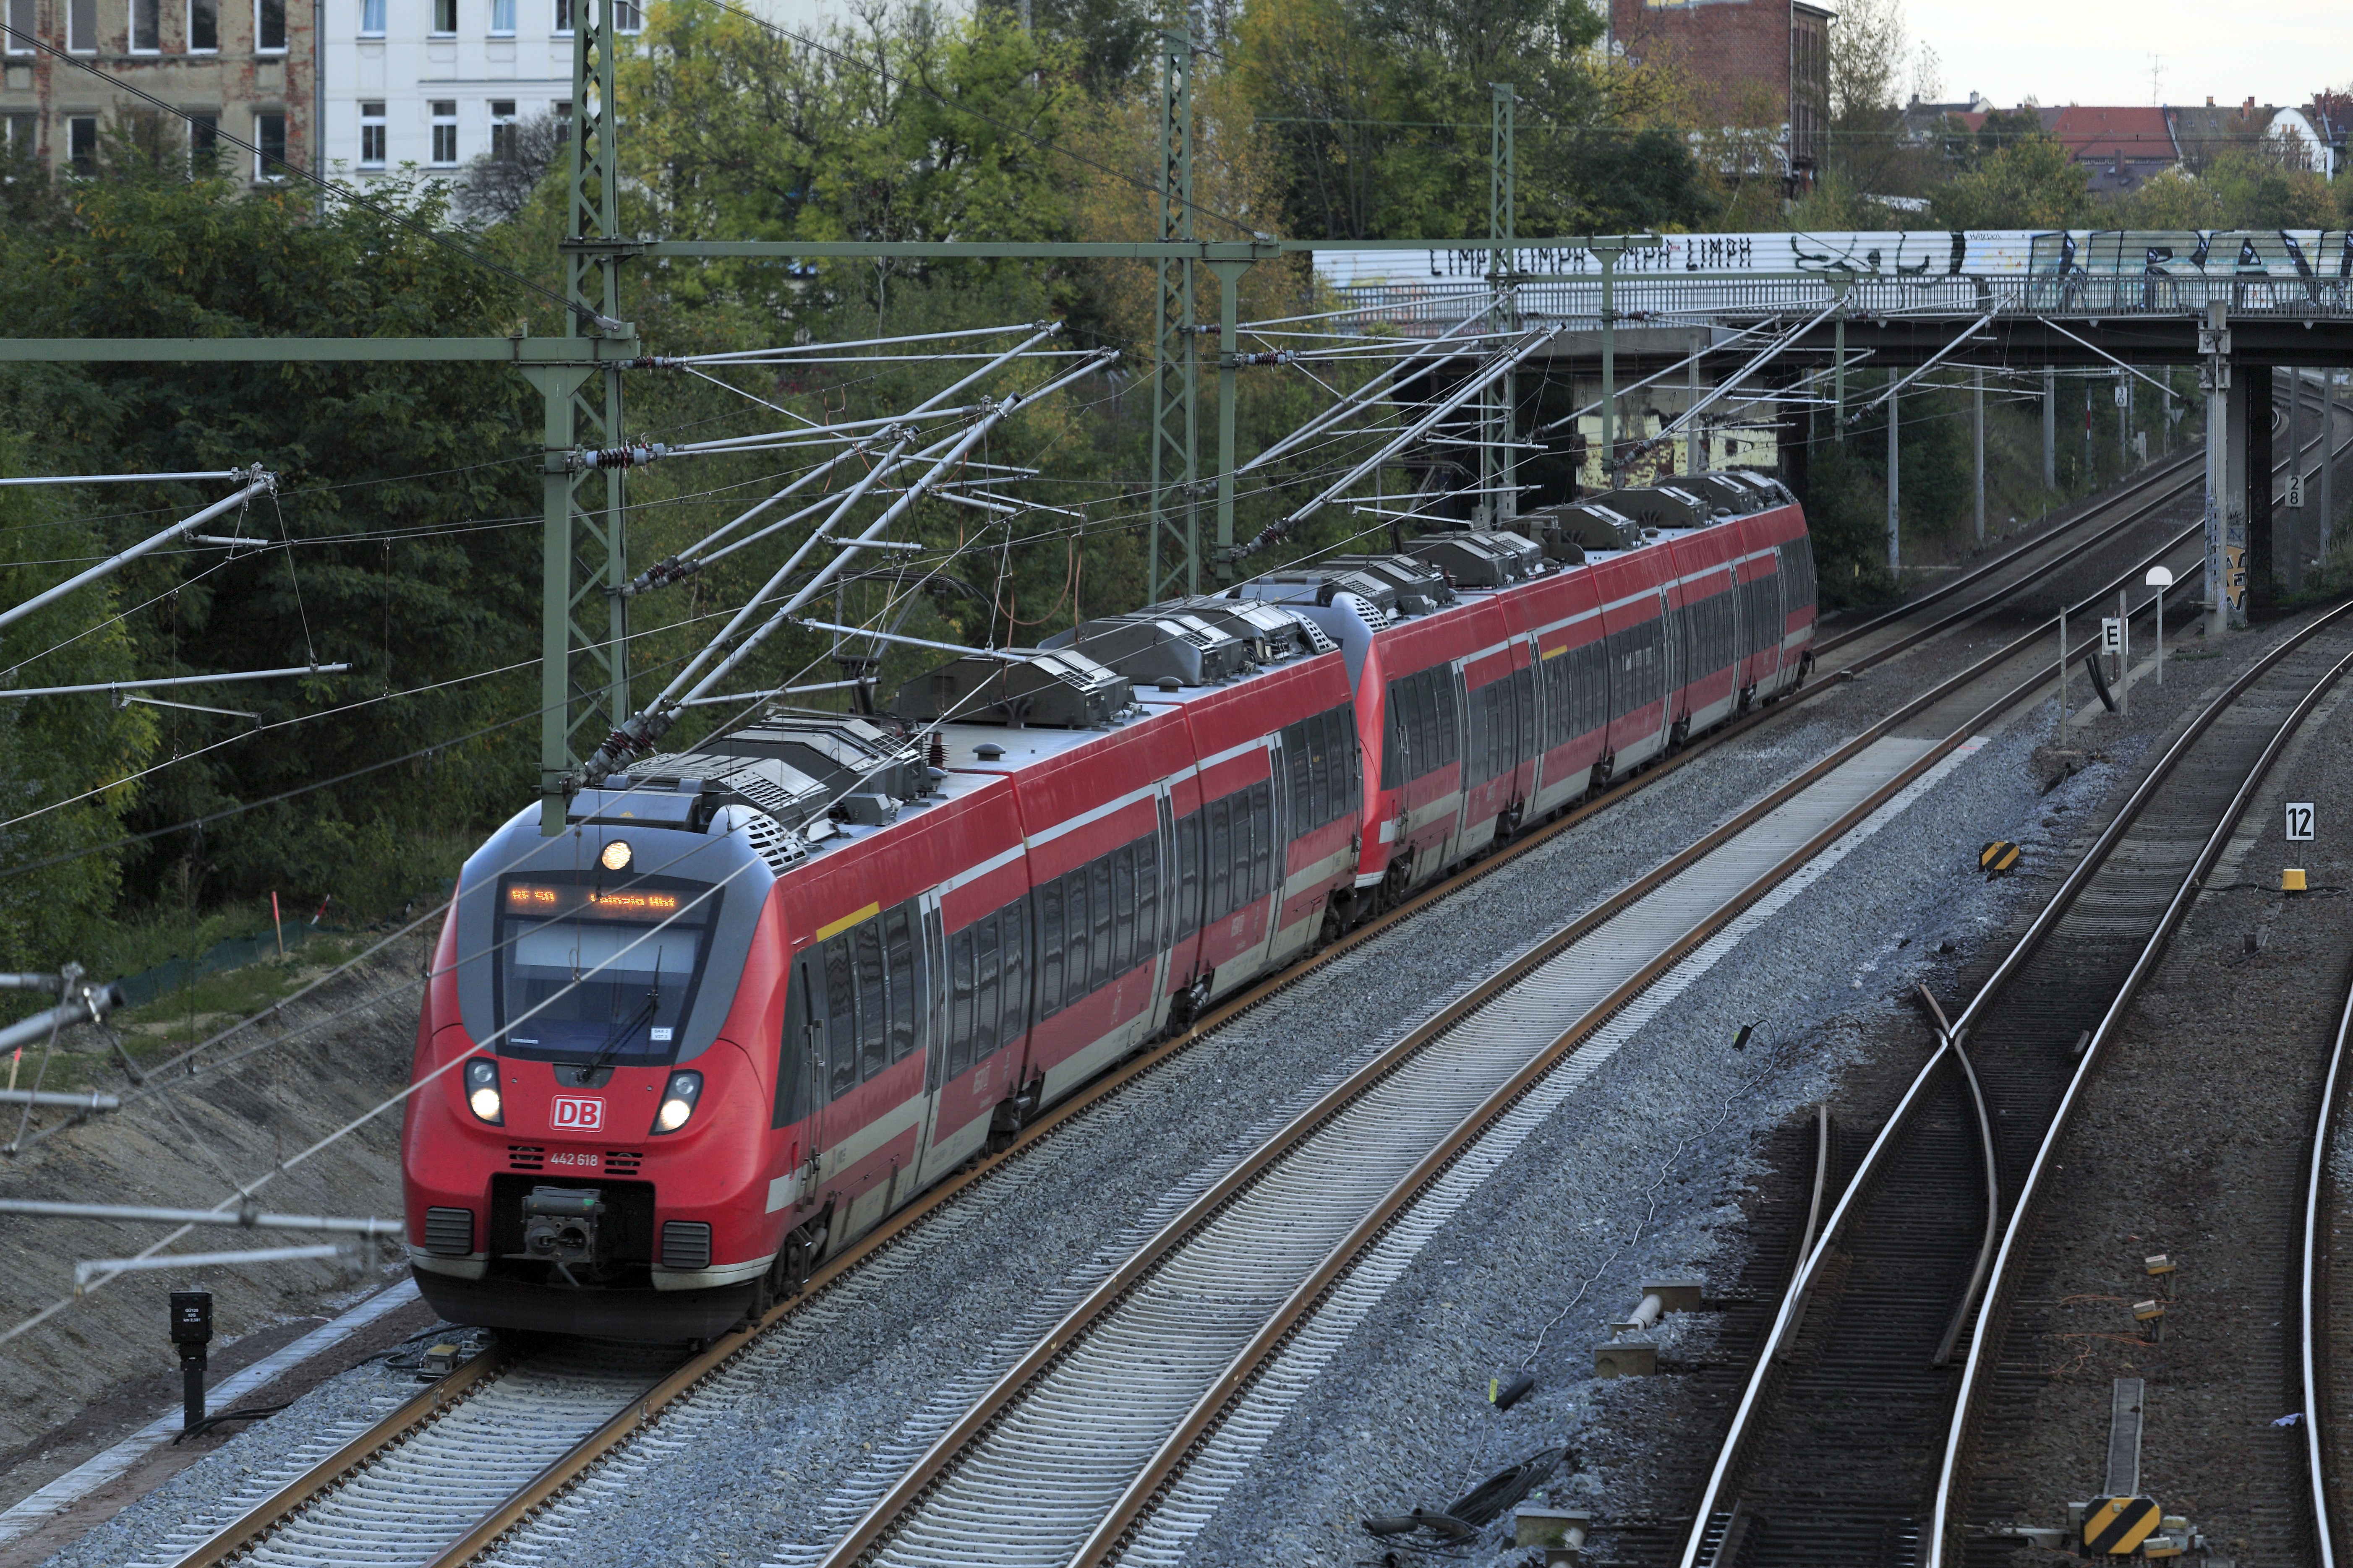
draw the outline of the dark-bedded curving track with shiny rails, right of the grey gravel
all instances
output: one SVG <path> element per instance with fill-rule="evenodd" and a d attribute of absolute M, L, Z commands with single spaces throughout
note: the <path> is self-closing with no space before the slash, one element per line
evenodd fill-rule
<path fill-rule="evenodd" d="M 2353 607 L 2205 703 L 1939 1027 L 1765 1335 L 1682 1568 L 1960 1561 L 1939 1528 L 1955 1420 L 1991 1375 L 2057 1135 L 2247 797 L 2346 668 Z"/>

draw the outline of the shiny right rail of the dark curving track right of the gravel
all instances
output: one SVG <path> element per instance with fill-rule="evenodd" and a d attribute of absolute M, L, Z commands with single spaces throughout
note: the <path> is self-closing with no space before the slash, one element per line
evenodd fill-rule
<path fill-rule="evenodd" d="M 2257 661 L 2257 665 L 2249 668 L 2247 675 L 2233 682 L 2231 689 L 2224 691 L 2212 708 L 2207 708 L 2207 715 L 2219 715 L 2224 705 L 2235 703 L 2238 696 L 2247 686 L 2252 686 L 2257 677 L 2268 672 L 2287 654 L 2304 646 L 2320 630 L 2334 625 L 2348 614 L 2353 614 L 2353 604 L 2339 604 L 2325 616 L 2318 616 L 2311 625 L 2301 628 L 2297 635 L 2287 637 L 2278 649 L 2268 651 L 2261 661 Z M 2019 1190 L 2019 1201 L 2012 1204 L 2009 1208 L 2009 1225 L 2002 1227 L 2002 1251 L 1995 1255 L 1993 1276 L 1986 1281 L 1986 1307 L 1984 1314 L 1979 1316 L 1979 1331 L 1969 1338 L 1969 1359 L 1962 1363 L 1960 1392 L 1953 1401 L 1953 1422 L 1946 1429 L 1944 1462 L 1937 1469 L 1937 1505 L 1929 1512 L 1927 1568 L 1941 1568 L 1946 1561 L 1946 1535 L 1953 1507 L 1953 1479 L 1960 1467 L 1960 1448 L 1967 1441 L 1967 1427 L 1974 1418 L 1977 1389 L 1984 1375 L 1986 1342 L 1991 1338 L 1986 1333 L 1986 1324 L 2000 1309 L 1998 1302 L 2002 1298 L 2002 1288 L 2009 1284 L 2009 1265 L 2019 1251 L 2019 1239 L 2033 1222 L 2035 1199 L 2042 1194 L 2045 1178 L 2052 1168 L 2052 1154 L 2054 1150 L 2059 1150 L 2059 1143 L 2075 1117 L 2075 1107 L 2082 1100 L 2085 1084 L 2092 1079 L 2092 1070 L 2099 1065 L 2101 1046 L 2106 1046 L 2111 1034 L 2115 1034 L 2115 1025 L 2122 1020 L 2125 1009 L 2132 1006 L 2132 1001 L 2141 994 L 2141 985 L 2146 985 L 2148 976 L 2155 971 L 2158 959 L 2165 957 L 2165 947 L 2172 940 L 2174 926 L 2181 924 L 2181 917 L 2188 914 L 2191 903 L 2195 903 L 2198 893 L 2205 891 L 2205 875 L 2214 867 L 2214 858 L 2221 856 L 2224 846 L 2231 842 L 2231 835 L 2238 830 L 2240 818 L 2247 813 L 2247 804 L 2254 799 L 2254 792 L 2271 776 L 2273 762 L 2278 762 L 2280 752 L 2304 726 L 2304 719 L 2311 717 L 2313 708 L 2320 705 L 2320 698 L 2327 696 L 2329 686 L 2334 686 L 2346 675 L 2346 670 L 2353 670 L 2353 654 L 2339 658 L 2320 675 L 2320 679 L 2311 684 L 2311 689 L 2289 710 L 2289 715 L 2280 719 L 2278 729 L 2271 736 L 2271 743 L 2264 745 L 2264 752 L 2254 759 L 2254 766 L 2247 769 L 2247 776 L 2231 795 L 2231 804 L 2224 806 L 2221 816 L 2214 823 L 2214 830 L 2198 849 L 2198 856 L 2191 863 L 2188 875 L 2174 889 L 2172 900 L 2158 917 L 2155 931 L 2151 931 L 2148 940 L 2141 945 L 2141 954 L 2134 959 L 2132 971 L 2118 987 L 2115 999 L 2108 1004 L 2106 1013 L 2101 1013 L 2099 1027 L 2092 1030 L 2092 1039 L 2089 1044 L 2085 1044 L 2082 1060 L 2075 1063 L 2075 1074 L 2068 1079 L 2066 1093 L 2059 1100 L 2059 1110 L 2052 1114 L 2049 1128 L 2045 1128 L 2042 1133 L 2042 1145 L 2035 1150 L 2035 1161 L 2026 1171 L 2026 1185 Z M 2200 715 L 2200 719 L 2205 719 L 2207 715 Z M 2188 736 L 2184 736 L 2184 743 L 2186 741 Z M 2181 748 L 2177 745 L 2174 752 L 2179 750 Z M 2174 752 L 2167 752 L 2167 762 L 2172 762 Z M 2139 792 L 2134 795 L 2139 797 Z"/>

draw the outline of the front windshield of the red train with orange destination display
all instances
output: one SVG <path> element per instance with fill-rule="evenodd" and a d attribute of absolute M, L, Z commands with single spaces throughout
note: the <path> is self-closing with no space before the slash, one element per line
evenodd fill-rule
<path fill-rule="evenodd" d="M 499 1053 L 609 1067 L 675 1060 L 718 907 L 699 882 L 504 877 Z"/>

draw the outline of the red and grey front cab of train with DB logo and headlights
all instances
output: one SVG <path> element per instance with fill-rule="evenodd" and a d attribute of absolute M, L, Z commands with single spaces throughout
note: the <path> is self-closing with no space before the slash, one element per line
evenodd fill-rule
<path fill-rule="evenodd" d="M 708 1338 L 774 1253 L 774 879 L 744 835 L 536 816 L 468 860 L 426 987 L 416 1284 L 459 1324 Z"/>

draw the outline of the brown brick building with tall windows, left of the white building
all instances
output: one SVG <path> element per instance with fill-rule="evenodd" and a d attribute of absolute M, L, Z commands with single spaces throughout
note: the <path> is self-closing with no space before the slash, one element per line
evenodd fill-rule
<path fill-rule="evenodd" d="M 313 162 L 313 26 L 306 0 L 0 0 L 0 129 L 49 169 L 89 169 L 101 129 L 125 129 L 158 155 L 209 150 L 228 132 L 294 165 Z M 24 40 L 33 33 L 104 78 L 120 78 L 191 115 L 165 115 L 101 75 Z M 264 174 L 252 153 L 224 169 Z"/>

